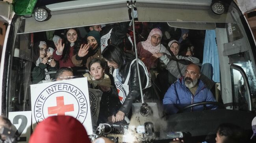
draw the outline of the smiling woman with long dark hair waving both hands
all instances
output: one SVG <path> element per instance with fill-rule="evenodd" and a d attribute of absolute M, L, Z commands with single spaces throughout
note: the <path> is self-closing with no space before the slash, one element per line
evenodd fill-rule
<path fill-rule="evenodd" d="M 53 58 L 59 61 L 59 67 L 74 67 L 72 63 L 72 56 L 75 54 L 86 55 L 88 53 L 89 45 L 82 45 L 80 33 L 76 28 L 70 28 L 65 31 L 65 38 L 62 44 L 60 39 L 55 44 L 56 49 L 54 51 Z"/>

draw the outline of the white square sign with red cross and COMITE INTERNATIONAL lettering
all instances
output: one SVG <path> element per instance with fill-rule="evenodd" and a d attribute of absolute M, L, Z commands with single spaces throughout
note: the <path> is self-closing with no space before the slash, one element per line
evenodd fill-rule
<path fill-rule="evenodd" d="M 78 119 L 87 134 L 93 134 L 87 78 L 34 84 L 30 91 L 33 125 L 49 116 L 67 115 Z"/>

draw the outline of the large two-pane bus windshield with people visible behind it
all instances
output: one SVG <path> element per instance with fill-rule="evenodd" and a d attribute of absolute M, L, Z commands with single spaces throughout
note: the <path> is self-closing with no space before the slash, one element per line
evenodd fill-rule
<path fill-rule="evenodd" d="M 87 92 L 85 100 L 89 97 L 91 138 L 108 134 L 118 142 L 135 142 L 173 138 L 206 141 L 208 134 L 216 136 L 219 123 L 238 112 L 256 110 L 253 47 L 234 4 L 223 15 L 209 11 L 210 6 L 195 9 L 195 5 L 176 4 L 169 8 L 180 13 L 169 14 L 165 12 L 168 7 L 160 4 L 161 15 L 152 13 L 154 9 L 147 11 L 152 4 L 145 5 L 137 4 L 134 25 L 132 20 L 108 19 L 93 25 L 82 25 L 78 20 L 77 25 L 58 27 L 46 21 L 45 27 L 41 22 L 38 29 L 38 25 L 30 29 L 31 19 L 18 18 L 10 47 L 7 112 L 31 110 L 36 122 L 43 120 L 37 110 L 45 117 L 72 116 L 76 105 L 73 110 L 50 107 L 70 105 L 71 98 L 64 96 L 70 91 L 82 108 L 83 98 L 68 87 L 74 83 L 73 88 Z M 191 11 L 182 12 L 180 7 Z M 82 12 L 79 9 L 78 13 Z M 68 14 L 62 16 L 69 18 Z M 55 92 L 54 85 L 60 83 L 63 86 L 59 88 L 67 91 L 54 98 L 40 96 L 47 88 L 49 95 Z M 46 105 L 39 104 L 40 97 L 45 103 L 55 103 L 44 111 Z M 77 117 L 83 112 L 82 108 Z M 213 125 L 201 129 L 209 124 L 209 118 Z"/>

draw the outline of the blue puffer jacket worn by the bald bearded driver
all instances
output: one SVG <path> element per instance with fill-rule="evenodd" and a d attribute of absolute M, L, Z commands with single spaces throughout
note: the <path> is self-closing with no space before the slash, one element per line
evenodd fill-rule
<path fill-rule="evenodd" d="M 165 93 L 163 98 L 163 107 L 167 114 L 175 114 L 179 109 L 182 109 L 189 104 L 202 101 L 216 102 L 211 91 L 206 87 L 206 85 L 204 85 L 201 80 L 199 80 L 197 91 L 193 96 L 193 94 L 185 86 L 184 77 L 182 77 L 173 83 Z M 216 106 L 214 105 L 206 105 L 206 107 L 209 109 L 216 109 Z M 195 110 L 204 110 L 204 106 L 196 106 L 186 110 L 186 112 Z"/>

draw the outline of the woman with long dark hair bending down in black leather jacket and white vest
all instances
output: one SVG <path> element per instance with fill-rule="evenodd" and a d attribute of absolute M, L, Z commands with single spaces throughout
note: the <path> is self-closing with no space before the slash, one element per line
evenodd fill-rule
<path fill-rule="evenodd" d="M 115 121 L 122 121 L 124 116 L 129 116 L 132 103 L 141 100 L 136 59 L 132 54 L 112 44 L 102 51 L 102 56 L 108 62 L 108 66 L 114 68 L 113 78 L 122 103 L 115 115 Z M 144 63 L 139 59 L 138 63 L 141 85 L 145 89 L 151 86 L 151 77 Z"/>

